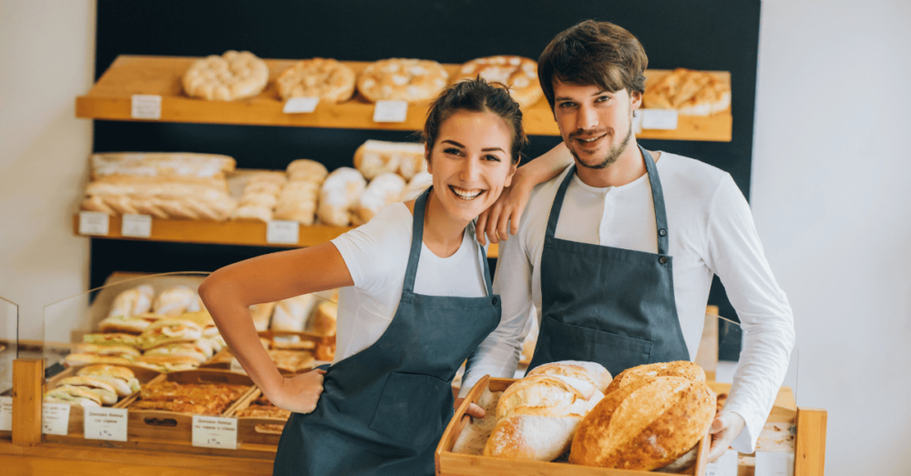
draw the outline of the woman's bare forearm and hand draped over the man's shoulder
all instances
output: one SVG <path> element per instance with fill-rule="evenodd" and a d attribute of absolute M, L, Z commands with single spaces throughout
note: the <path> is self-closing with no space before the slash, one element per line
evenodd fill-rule
<path fill-rule="evenodd" d="M 504 189 L 496 202 L 477 217 L 475 227 L 477 240 L 482 245 L 486 244 L 484 238 L 486 234 L 491 243 L 499 243 L 501 239 L 504 241 L 509 239 L 509 234 L 517 234 L 518 222 L 528 204 L 531 189 L 537 184 L 557 177 L 572 162 L 572 154 L 569 153 L 566 144 L 560 142 L 557 147 L 550 149 L 543 156 L 518 167 L 516 175 L 513 176 L 512 185 Z M 509 234 L 507 234 L 507 224 L 510 222 L 512 226 L 509 227 Z"/>

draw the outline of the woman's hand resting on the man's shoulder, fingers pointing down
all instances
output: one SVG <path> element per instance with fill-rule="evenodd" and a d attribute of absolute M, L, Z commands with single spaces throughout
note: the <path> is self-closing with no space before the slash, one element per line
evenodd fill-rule
<path fill-rule="evenodd" d="M 509 239 L 510 234 L 518 233 L 518 221 L 528 204 L 528 197 L 531 197 L 531 189 L 537 185 L 520 174 L 521 171 L 522 168 L 519 167 L 513 177 L 512 186 L 504 188 L 496 202 L 477 217 L 475 234 L 481 245 L 486 245 L 485 234 L 491 243 L 499 243 L 500 240 Z M 510 223 L 512 226 L 507 233 L 507 225 Z"/>

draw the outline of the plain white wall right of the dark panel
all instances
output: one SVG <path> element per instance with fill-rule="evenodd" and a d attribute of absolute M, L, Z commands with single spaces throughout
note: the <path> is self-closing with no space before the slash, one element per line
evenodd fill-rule
<path fill-rule="evenodd" d="M 911 463 L 911 3 L 763 2 L 752 210 L 826 474 Z"/>

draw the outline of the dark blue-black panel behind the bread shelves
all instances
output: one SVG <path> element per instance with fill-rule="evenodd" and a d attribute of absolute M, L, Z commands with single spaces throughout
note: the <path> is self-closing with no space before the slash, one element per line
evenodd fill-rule
<path fill-rule="evenodd" d="M 419 57 L 462 63 L 499 54 L 537 58 L 553 35 L 596 18 L 639 37 L 649 67 L 730 71 L 733 140 L 729 143 L 642 140 L 644 147 L 699 158 L 731 173 L 750 193 L 759 0 L 475 0 L 372 2 L 220 2 L 98 0 L 96 77 L 118 55 L 207 56 L 227 49 L 265 58 L 328 56 L 373 61 Z M 295 158 L 350 166 L 368 138 L 414 140 L 411 133 L 302 127 L 215 126 L 96 121 L 94 149 L 226 154 L 238 167 L 283 168 Z M 558 143 L 530 137 L 528 157 Z M 214 270 L 274 248 L 92 240 L 92 286 L 113 270 Z M 718 279 L 709 302 L 735 318 Z M 722 335 L 728 335 L 722 326 Z M 736 358 L 739 335 L 722 338 L 722 357 Z"/>

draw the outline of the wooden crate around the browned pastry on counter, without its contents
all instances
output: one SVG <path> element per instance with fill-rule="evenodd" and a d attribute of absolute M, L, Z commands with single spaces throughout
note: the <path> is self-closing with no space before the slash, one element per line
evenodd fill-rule
<path fill-rule="evenodd" d="M 149 383 L 158 383 L 160 381 L 227 383 L 249 386 L 250 388 L 240 398 L 231 403 L 226 410 L 222 411 L 220 416 L 230 414 L 235 406 L 248 398 L 250 393 L 256 389 L 250 377 L 227 370 L 182 370 L 162 374 L 158 379 Z M 139 395 L 135 394 L 130 400 L 125 400 L 121 408 L 129 409 L 129 406 L 138 398 Z M 128 438 L 148 438 L 171 442 L 193 441 L 193 416 L 187 413 L 165 410 L 128 410 L 127 426 Z"/>

